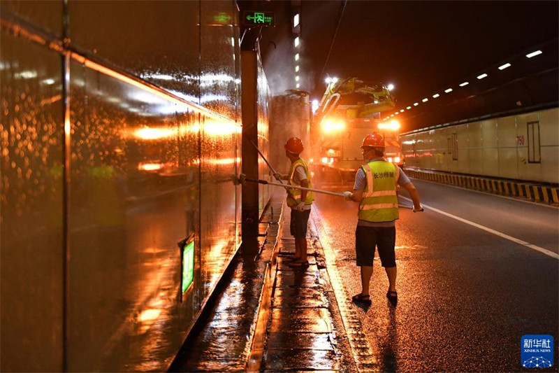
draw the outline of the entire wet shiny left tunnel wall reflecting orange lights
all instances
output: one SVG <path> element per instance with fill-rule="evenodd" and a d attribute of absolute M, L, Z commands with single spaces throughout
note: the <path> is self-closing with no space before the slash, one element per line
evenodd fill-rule
<path fill-rule="evenodd" d="M 0 370 L 166 370 L 240 244 L 238 10 L 48 4 L 0 3 Z"/>

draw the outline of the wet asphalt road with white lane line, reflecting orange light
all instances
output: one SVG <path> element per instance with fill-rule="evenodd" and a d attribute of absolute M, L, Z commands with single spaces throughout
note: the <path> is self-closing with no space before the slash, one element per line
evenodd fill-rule
<path fill-rule="evenodd" d="M 558 209 L 413 182 L 421 202 L 433 209 L 400 209 L 398 305 L 386 300 L 388 280 L 376 258 L 372 305 L 352 306 L 375 370 L 523 370 L 521 337 L 553 335 L 557 341 L 559 334 L 558 260 L 552 256 L 559 246 Z M 411 202 L 401 198 L 400 204 Z M 356 209 L 324 195 L 317 195 L 314 206 L 321 244 L 335 255 L 326 254 L 326 262 L 335 265 L 349 297 L 361 291 L 354 262 Z M 555 349 L 558 356 L 557 343 Z"/>

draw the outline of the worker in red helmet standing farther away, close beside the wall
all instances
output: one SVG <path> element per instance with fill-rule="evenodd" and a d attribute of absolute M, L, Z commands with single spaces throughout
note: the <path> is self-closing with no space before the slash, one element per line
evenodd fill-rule
<path fill-rule="evenodd" d="M 282 176 L 274 174 L 278 180 L 285 179 L 289 185 L 312 188 L 310 172 L 307 163 L 299 157 L 303 151 L 303 141 L 298 137 L 291 137 L 284 145 L 285 155 L 291 161 L 289 174 Z M 309 222 L 310 209 L 314 195 L 310 190 L 289 189 L 287 190 L 287 206 L 291 208 L 291 224 L 289 229 L 295 237 L 295 255 L 289 267 L 296 269 L 307 269 L 307 224 Z"/>

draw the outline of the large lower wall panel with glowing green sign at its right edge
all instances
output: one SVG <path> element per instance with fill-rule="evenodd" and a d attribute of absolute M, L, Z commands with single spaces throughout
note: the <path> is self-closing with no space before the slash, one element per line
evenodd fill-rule
<path fill-rule="evenodd" d="M 205 297 L 198 267 L 181 307 L 177 247 L 200 242 L 199 115 L 76 62 L 70 76 L 68 369 L 146 370 L 129 346 L 157 335 L 150 362 L 168 360 L 175 315 L 191 322 Z"/>

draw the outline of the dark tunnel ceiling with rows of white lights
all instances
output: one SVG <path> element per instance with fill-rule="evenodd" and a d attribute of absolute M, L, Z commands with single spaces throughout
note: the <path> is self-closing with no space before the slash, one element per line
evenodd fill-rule
<path fill-rule="evenodd" d="M 239 3 L 277 14 L 276 26 L 261 31 L 261 55 L 270 81 L 275 75 L 282 77 L 280 82 L 293 81 L 290 62 L 296 51 L 291 45 L 296 34 L 291 18 L 298 11 L 299 89 L 320 99 L 326 76 L 393 83 L 396 106 L 382 118 L 398 111 L 394 117 L 404 130 L 556 106 L 558 101 L 556 1 Z M 542 54 L 526 57 L 535 50 Z M 500 70 L 505 63 L 511 66 Z M 488 76 L 478 79 L 482 73 Z M 460 87 L 466 81 L 469 84 Z M 277 88 L 288 89 L 283 84 Z M 449 88 L 452 92 L 445 93 Z"/>

